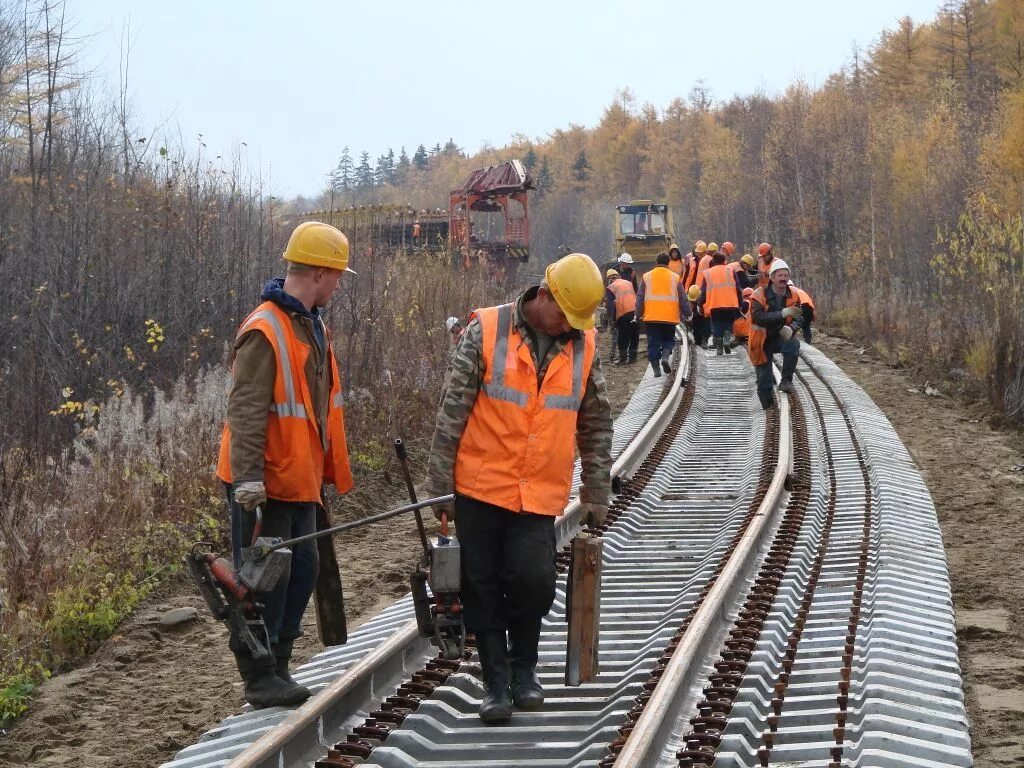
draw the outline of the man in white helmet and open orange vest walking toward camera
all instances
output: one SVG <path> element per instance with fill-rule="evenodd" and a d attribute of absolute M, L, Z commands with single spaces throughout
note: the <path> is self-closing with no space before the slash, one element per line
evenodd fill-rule
<path fill-rule="evenodd" d="M 796 332 L 803 323 L 800 297 L 790 290 L 790 265 L 774 259 L 769 283 L 751 294 L 751 335 L 748 341 L 751 362 L 757 373 L 758 398 L 766 411 L 775 404 L 775 379 L 772 376 L 772 355 L 782 355 L 780 392 L 793 391 L 793 375 L 797 372 L 800 341 Z"/>

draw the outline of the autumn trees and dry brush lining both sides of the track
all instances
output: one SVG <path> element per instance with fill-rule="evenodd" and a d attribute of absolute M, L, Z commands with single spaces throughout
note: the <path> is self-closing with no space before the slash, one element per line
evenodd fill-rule
<path fill-rule="evenodd" d="M 562 245 L 610 257 L 611 207 L 664 199 L 681 244 L 772 242 L 829 327 L 1024 419 L 1024 0 L 904 19 L 820 86 L 720 100 L 698 83 L 664 108 L 623 91 L 594 127 L 472 156 L 454 138 L 346 153 L 294 201 L 245 147 L 141 131 L 127 58 L 97 89 L 69 29 L 58 0 L 0 2 L 0 721 L 219 536 L 226 345 L 303 210 L 439 208 L 518 157 L 540 266 Z M 390 436 L 429 429 L 443 317 L 508 289 L 353 245 L 330 323 L 366 476 Z"/>

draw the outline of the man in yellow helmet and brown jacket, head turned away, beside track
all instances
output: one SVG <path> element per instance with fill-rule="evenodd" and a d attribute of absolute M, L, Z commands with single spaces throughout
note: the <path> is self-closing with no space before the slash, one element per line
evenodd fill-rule
<path fill-rule="evenodd" d="M 352 487 L 341 379 L 321 314 L 341 275 L 352 271 L 348 257 L 341 231 L 317 221 L 299 224 L 285 249 L 286 276 L 266 284 L 262 303 L 236 336 L 217 462 L 230 503 L 236 566 L 255 528 L 282 539 L 311 534 L 323 485 L 334 484 L 341 494 Z M 315 544 L 293 547 L 289 578 L 260 596 L 273 651 L 267 660 L 253 658 L 241 638 L 228 639 L 245 698 L 257 709 L 309 697 L 289 675 L 288 664 L 315 579 Z"/>

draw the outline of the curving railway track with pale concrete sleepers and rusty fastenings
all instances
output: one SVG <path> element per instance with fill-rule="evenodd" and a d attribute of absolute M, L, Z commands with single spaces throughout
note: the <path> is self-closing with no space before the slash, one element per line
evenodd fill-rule
<path fill-rule="evenodd" d="M 563 685 L 564 575 L 544 710 L 504 726 L 476 716 L 475 656 L 437 659 L 404 598 L 300 668 L 302 708 L 166 766 L 971 765 L 941 539 L 891 426 L 816 350 L 768 418 L 742 355 L 681 355 L 616 420 L 594 682 Z"/>

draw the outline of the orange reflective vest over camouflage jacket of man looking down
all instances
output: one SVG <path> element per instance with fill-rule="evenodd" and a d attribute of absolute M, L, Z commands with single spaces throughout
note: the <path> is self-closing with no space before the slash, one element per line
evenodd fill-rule
<path fill-rule="evenodd" d="M 585 331 L 548 364 L 537 362 L 513 323 L 515 306 L 478 309 L 483 384 L 459 441 L 457 493 L 513 512 L 560 515 L 575 462 L 577 412 L 594 362 Z"/>

